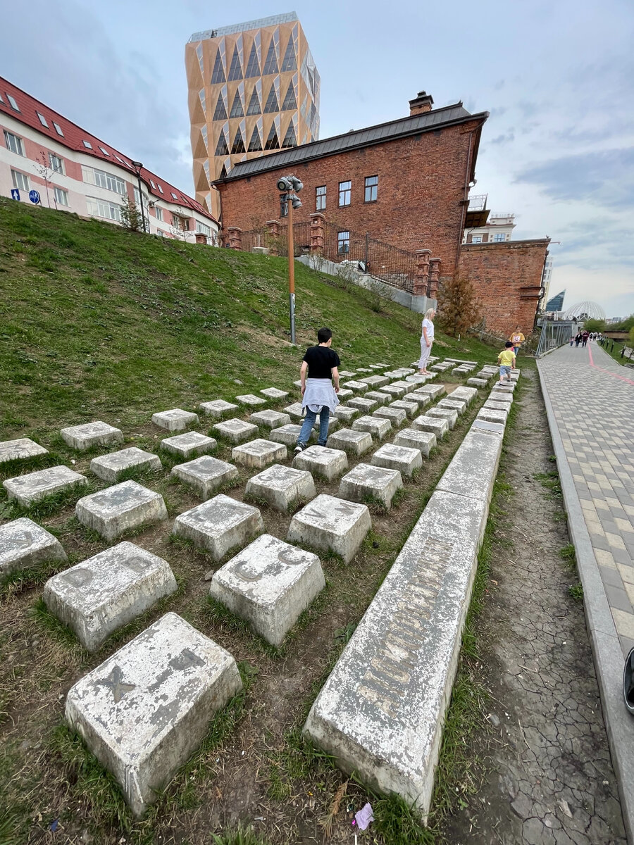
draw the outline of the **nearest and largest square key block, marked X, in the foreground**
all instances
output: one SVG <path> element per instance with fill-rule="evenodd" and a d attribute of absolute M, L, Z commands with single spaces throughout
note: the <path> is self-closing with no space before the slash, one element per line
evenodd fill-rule
<path fill-rule="evenodd" d="M 74 684 L 66 721 L 140 816 L 241 689 L 229 652 L 166 613 Z"/>

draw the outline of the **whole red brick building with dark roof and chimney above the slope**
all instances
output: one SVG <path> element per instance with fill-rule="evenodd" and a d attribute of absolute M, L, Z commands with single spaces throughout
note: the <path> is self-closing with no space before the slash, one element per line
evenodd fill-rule
<path fill-rule="evenodd" d="M 276 181 L 292 174 L 304 186 L 295 222 L 321 212 L 343 235 L 367 232 L 410 252 L 431 250 L 440 278 L 453 275 L 489 112 L 470 114 L 462 102 L 432 106 L 423 91 L 409 117 L 239 162 L 214 183 L 224 242 L 230 227 L 281 220 Z"/>

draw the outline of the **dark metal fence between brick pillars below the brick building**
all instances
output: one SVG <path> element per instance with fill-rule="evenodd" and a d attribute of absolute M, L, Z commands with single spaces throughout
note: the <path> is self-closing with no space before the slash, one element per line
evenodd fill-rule
<path fill-rule="evenodd" d="M 279 235 L 272 236 L 266 226 L 242 232 L 242 248 L 251 252 L 254 248 L 275 249 L 278 255 L 288 255 L 287 229 L 282 224 Z M 310 223 L 300 221 L 292 226 L 292 245 L 295 256 L 310 254 Z M 362 235 L 342 229 L 335 223 L 324 223 L 324 246 L 320 253 L 336 264 L 347 263 L 355 270 L 379 278 L 385 284 L 399 290 L 413 292 L 416 276 L 416 254 L 377 241 L 368 234 Z"/>

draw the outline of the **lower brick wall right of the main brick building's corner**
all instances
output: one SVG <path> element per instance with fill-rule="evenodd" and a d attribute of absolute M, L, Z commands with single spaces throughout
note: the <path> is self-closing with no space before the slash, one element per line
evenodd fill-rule
<path fill-rule="evenodd" d="M 544 237 L 462 245 L 458 272 L 473 283 L 489 330 L 510 335 L 519 325 L 524 335 L 533 331 L 549 243 Z"/>

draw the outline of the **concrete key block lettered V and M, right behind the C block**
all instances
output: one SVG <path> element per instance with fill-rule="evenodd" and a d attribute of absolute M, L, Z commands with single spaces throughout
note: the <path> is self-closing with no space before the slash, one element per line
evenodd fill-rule
<path fill-rule="evenodd" d="M 335 552 L 349 564 L 371 527 L 366 505 L 321 493 L 292 517 L 287 541 Z"/>

